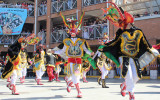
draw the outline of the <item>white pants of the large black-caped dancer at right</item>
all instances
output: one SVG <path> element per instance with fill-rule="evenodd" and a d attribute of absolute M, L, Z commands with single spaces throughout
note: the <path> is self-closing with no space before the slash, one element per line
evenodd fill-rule
<path fill-rule="evenodd" d="M 122 64 L 122 60 L 121 64 Z M 134 92 L 135 84 L 139 80 L 138 75 L 137 75 L 137 70 L 135 66 L 135 62 L 132 58 L 129 58 L 129 65 L 128 65 L 128 72 L 125 77 L 126 81 L 126 90 L 128 92 Z"/>

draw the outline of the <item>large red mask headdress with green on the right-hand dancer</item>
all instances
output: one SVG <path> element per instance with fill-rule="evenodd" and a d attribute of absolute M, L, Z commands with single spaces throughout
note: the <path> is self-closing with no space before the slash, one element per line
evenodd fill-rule
<path fill-rule="evenodd" d="M 102 8 L 104 19 L 108 19 L 113 25 L 122 29 L 126 29 L 129 23 L 134 22 L 134 18 L 131 14 L 119 9 L 118 6 L 112 2 L 106 3 L 110 3 L 111 5 L 106 10 Z"/>

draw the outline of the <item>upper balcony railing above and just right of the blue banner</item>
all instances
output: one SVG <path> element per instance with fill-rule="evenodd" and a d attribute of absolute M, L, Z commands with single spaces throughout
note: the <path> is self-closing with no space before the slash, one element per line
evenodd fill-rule
<path fill-rule="evenodd" d="M 21 5 L 12 5 L 12 4 L 0 4 L 0 8 L 19 8 L 22 9 Z M 34 16 L 34 6 L 29 6 L 27 9 L 28 16 Z"/>

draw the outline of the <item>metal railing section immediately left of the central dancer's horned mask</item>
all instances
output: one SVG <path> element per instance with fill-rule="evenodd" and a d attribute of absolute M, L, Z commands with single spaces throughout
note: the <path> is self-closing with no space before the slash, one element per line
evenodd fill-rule
<path fill-rule="evenodd" d="M 59 43 L 63 42 L 65 38 L 69 37 L 66 30 L 57 30 L 51 33 L 50 43 Z"/>

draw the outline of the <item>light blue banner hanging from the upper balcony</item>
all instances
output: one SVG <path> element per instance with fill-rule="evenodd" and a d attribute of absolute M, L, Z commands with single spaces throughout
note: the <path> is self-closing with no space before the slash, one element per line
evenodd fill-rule
<path fill-rule="evenodd" d="M 0 35 L 20 34 L 26 18 L 26 9 L 0 8 Z"/>

